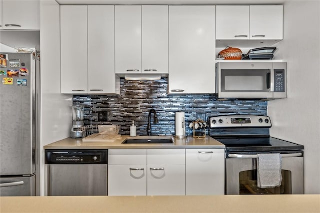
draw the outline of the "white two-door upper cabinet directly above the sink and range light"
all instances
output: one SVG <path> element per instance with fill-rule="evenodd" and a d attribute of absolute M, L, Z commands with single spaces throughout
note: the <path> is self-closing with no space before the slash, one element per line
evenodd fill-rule
<path fill-rule="evenodd" d="M 168 6 L 115 5 L 115 73 L 168 72 Z"/>

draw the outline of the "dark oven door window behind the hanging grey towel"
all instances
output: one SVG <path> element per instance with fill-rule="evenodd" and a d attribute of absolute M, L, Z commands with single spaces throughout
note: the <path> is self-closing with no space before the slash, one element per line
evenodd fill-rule
<path fill-rule="evenodd" d="M 274 195 L 291 194 L 291 171 L 281 170 L 281 186 L 274 188 L 258 188 L 256 170 L 247 170 L 239 173 L 240 195 Z"/>

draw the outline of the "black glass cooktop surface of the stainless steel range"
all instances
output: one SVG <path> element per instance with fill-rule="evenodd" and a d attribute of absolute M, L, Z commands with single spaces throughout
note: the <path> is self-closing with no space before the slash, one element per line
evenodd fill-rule
<path fill-rule="evenodd" d="M 225 145 L 226 151 L 293 151 L 302 150 L 303 145 L 273 137 L 212 137 Z"/>

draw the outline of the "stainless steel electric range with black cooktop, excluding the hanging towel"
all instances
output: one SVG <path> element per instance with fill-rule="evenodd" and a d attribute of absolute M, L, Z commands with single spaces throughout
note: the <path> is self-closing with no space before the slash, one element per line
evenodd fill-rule
<path fill-rule="evenodd" d="M 209 135 L 225 145 L 225 194 L 303 194 L 303 145 L 270 137 L 271 120 L 259 115 L 208 118 Z M 279 187 L 257 187 L 257 154 L 281 155 Z"/>

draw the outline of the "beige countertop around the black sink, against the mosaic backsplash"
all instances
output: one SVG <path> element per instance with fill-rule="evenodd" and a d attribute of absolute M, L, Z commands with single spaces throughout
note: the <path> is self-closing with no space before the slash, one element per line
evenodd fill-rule
<path fill-rule="evenodd" d="M 114 141 L 82 142 L 82 139 L 65 138 L 45 145 L 44 149 L 224 149 L 225 146 L 210 136 L 205 138 L 186 137 L 182 139 L 172 136 L 152 136 L 157 138 L 172 138 L 173 144 L 122 144 L 126 138 L 141 138 L 119 135 Z"/>

